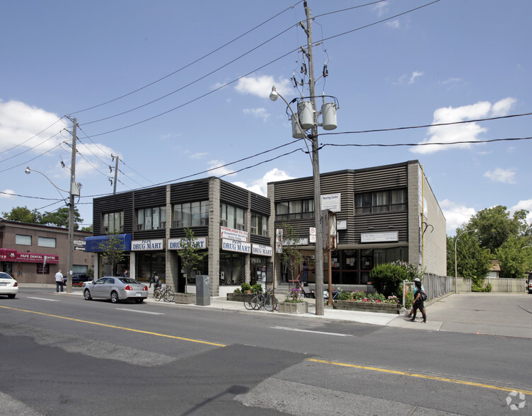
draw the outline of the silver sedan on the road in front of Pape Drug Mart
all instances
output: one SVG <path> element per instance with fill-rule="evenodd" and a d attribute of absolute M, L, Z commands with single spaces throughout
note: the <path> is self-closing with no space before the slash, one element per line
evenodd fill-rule
<path fill-rule="evenodd" d="M 83 287 L 83 297 L 110 299 L 113 304 L 118 301 L 134 300 L 140 304 L 148 297 L 148 287 L 130 277 L 101 277 Z"/>

